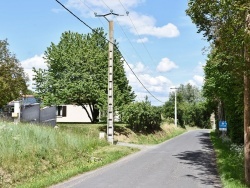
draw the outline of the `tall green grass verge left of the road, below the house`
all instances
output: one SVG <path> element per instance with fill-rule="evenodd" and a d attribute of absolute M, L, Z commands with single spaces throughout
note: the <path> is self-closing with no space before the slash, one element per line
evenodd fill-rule
<path fill-rule="evenodd" d="M 54 129 L 7 122 L 0 122 L 0 150 L 0 187 L 46 187 L 136 151 L 99 140 L 95 125 Z"/>

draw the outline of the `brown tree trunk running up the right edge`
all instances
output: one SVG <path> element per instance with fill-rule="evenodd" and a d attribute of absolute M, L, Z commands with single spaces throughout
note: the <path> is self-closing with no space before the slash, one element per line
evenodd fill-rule
<path fill-rule="evenodd" d="M 244 153 L 245 153 L 245 181 L 250 185 L 250 14 L 246 14 L 245 38 L 245 73 L 244 73 Z"/>

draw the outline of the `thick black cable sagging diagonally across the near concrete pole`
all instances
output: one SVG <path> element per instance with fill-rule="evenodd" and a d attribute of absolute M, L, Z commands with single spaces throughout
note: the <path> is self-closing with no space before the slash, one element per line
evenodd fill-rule
<path fill-rule="evenodd" d="M 87 23 L 85 23 L 84 21 L 82 21 L 77 15 L 75 15 L 71 10 L 69 10 L 67 7 L 65 7 L 59 0 L 55 0 L 58 4 L 60 4 L 65 10 L 67 10 L 71 15 L 73 15 L 76 19 L 78 19 L 81 23 L 83 23 L 86 27 L 88 27 L 92 32 L 96 33 L 99 35 L 99 33 L 93 29 L 92 27 L 90 27 Z M 141 80 L 138 78 L 138 76 L 135 74 L 135 72 L 132 70 L 132 68 L 130 67 L 130 65 L 127 63 L 127 61 L 125 60 L 125 58 L 123 57 L 121 51 L 119 50 L 119 48 L 116 46 L 116 44 L 114 44 L 113 42 L 109 41 L 108 39 L 106 39 L 103 35 L 99 35 L 101 36 L 103 39 L 105 39 L 106 41 L 112 43 L 114 45 L 114 47 L 120 52 L 122 58 L 124 59 L 124 62 L 128 65 L 129 69 L 131 70 L 131 72 L 135 75 L 136 79 L 140 82 L 140 84 L 143 86 L 143 88 L 157 101 L 164 103 L 162 101 L 160 101 L 159 99 L 157 99 L 146 87 L 145 85 L 141 82 Z"/>

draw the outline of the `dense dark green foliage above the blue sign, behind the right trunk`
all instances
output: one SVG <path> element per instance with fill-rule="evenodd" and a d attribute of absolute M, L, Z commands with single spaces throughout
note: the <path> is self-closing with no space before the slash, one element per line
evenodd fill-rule
<path fill-rule="evenodd" d="M 214 106 L 217 119 L 228 122 L 228 134 L 233 142 L 243 143 L 243 75 L 238 75 L 230 57 L 214 49 L 208 56 L 205 71 L 204 96 Z"/>

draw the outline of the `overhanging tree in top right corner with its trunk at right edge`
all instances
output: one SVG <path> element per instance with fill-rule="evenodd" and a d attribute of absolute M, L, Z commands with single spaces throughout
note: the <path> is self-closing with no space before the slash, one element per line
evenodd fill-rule
<path fill-rule="evenodd" d="M 250 184 L 250 2 L 248 0 L 190 0 L 187 14 L 212 41 L 216 50 L 229 55 L 244 84 L 245 180 Z"/>

